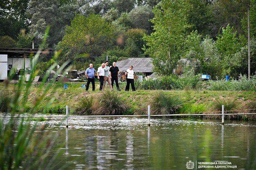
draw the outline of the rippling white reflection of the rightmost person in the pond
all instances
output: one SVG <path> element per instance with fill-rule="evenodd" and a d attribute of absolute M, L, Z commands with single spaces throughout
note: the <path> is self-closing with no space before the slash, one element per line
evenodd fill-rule
<path fill-rule="evenodd" d="M 133 168 L 133 136 L 128 132 L 126 136 L 126 165 L 128 169 Z"/>

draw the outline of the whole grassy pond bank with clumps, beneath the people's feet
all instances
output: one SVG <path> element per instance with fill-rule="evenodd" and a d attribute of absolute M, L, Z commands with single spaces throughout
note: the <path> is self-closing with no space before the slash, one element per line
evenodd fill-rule
<path fill-rule="evenodd" d="M 256 111 L 256 92 L 253 91 L 137 90 L 126 92 L 122 88 L 120 92 L 107 92 L 106 90 L 103 93 L 98 91 L 98 84 L 96 84 L 95 91 L 91 91 L 91 87 L 89 91 L 85 91 L 85 88 L 81 87 L 84 83 L 66 84 L 67 89 L 63 88 L 64 83 L 53 84 L 43 98 L 43 102 L 39 104 L 37 112 L 64 114 L 65 105 L 68 105 L 72 114 L 79 112 L 79 115 L 139 115 L 146 114 L 147 105 L 152 105 L 152 114 L 207 113 L 221 110 L 222 104 L 231 113 L 237 113 L 238 111 L 235 110 L 244 109 L 246 111 L 239 113 L 255 113 Z M 28 111 L 40 95 L 40 92 L 37 91 L 39 84 L 32 86 L 26 105 L 24 108 L 20 108 L 20 112 Z M 121 86 L 123 87 L 123 85 Z M 13 94 L 14 87 L 14 84 L 9 84 L 6 88 L 3 83 L 0 83 L 0 104 L 6 103 L 3 102 L 7 100 L 4 98 Z M 109 100 L 104 100 L 108 97 Z M 118 108 L 119 106 L 121 107 Z M 109 107 L 110 111 L 104 111 L 107 110 L 104 109 L 105 107 Z M 117 109 L 113 110 L 116 107 Z M 1 106 L 1 108 L 4 107 Z M 118 110 L 121 110 L 122 113 Z M 6 112 L 6 109 L 2 112 Z M 239 119 L 249 119 L 250 117 L 243 116 Z"/>

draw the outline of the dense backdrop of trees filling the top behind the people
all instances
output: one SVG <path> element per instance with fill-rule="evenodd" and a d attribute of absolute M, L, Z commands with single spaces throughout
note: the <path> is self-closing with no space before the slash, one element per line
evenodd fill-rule
<path fill-rule="evenodd" d="M 161 75 L 247 74 L 247 7 L 251 74 L 256 71 L 255 0 L 6 0 L 0 47 L 62 50 L 56 62 L 76 69 L 95 57 L 152 57 Z M 21 33 L 19 33 L 21 31 Z"/>

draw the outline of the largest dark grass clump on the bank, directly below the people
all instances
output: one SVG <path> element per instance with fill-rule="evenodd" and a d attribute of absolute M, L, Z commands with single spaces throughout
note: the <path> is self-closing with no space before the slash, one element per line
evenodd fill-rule
<path fill-rule="evenodd" d="M 116 92 L 104 91 L 93 104 L 96 115 L 122 115 L 129 110 L 128 104 Z"/>

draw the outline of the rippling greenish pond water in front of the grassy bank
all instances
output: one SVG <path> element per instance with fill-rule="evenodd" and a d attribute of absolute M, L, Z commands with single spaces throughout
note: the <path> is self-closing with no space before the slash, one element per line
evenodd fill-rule
<path fill-rule="evenodd" d="M 256 169 L 255 122 L 223 126 L 217 120 L 154 118 L 150 127 L 146 123 L 145 118 L 70 118 L 66 129 L 60 119 L 51 119 L 47 131 L 58 134 L 55 143 L 64 150 L 59 163 L 67 161 L 68 169 L 195 170 L 202 162 Z"/>

